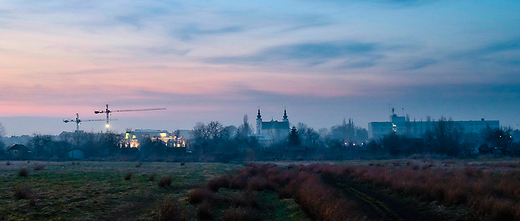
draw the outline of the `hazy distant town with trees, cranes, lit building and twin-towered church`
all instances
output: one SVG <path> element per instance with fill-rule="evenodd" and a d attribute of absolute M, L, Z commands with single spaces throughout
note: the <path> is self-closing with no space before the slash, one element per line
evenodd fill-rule
<path fill-rule="evenodd" d="M 157 110 L 157 109 L 141 109 Z M 129 110 L 128 110 L 129 111 Z M 255 123 L 244 115 L 241 125 L 222 125 L 218 121 L 197 123 L 191 130 L 128 129 L 116 133 L 63 131 L 57 136 L 32 134 L 2 137 L 3 159 L 52 160 L 336 160 L 413 154 L 452 157 L 520 155 L 520 131 L 500 126 L 498 120 L 456 119 L 411 120 L 394 110 L 386 122 L 370 122 L 368 130 L 344 119 L 330 128 L 314 129 L 305 123 L 291 124 L 286 109 L 280 120 L 264 120 L 259 108 Z M 272 114 L 272 113 L 269 113 Z M 102 121 L 102 120 L 95 120 Z M 4 130 L 4 128 L 1 128 Z"/>

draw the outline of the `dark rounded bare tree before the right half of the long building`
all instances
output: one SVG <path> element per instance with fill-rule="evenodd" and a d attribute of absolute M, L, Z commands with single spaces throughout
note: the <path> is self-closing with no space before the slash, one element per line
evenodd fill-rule
<path fill-rule="evenodd" d="M 453 121 L 441 117 L 424 135 L 426 146 L 432 153 L 455 156 L 469 154 L 471 142 L 464 129 Z"/>

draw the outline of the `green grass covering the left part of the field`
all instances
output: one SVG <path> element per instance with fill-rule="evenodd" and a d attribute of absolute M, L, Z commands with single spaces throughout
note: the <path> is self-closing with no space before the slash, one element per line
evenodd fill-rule
<path fill-rule="evenodd" d="M 0 219 L 158 220 L 164 205 L 174 203 L 185 213 L 184 218 L 197 220 L 195 207 L 186 200 L 189 191 L 242 167 L 221 163 L 3 161 Z M 27 176 L 19 176 L 22 168 Z M 155 174 L 153 181 L 149 181 L 151 174 Z M 170 185 L 159 187 L 161 177 L 167 176 L 171 177 Z M 240 191 L 221 192 L 224 196 Z M 265 218 L 299 220 L 303 216 L 294 201 L 278 200 L 274 193 L 260 193 L 258 199 Z"/>

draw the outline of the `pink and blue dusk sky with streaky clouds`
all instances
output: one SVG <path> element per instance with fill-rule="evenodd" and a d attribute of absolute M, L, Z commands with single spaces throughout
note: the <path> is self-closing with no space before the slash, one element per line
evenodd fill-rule
<path fill-rule="evenodd" d="M 410 119 L 520 128 L 520 1 L 0 2 L 5 135 L 264 120 Z M 103 122 L 84 122 L 103 131 Z"/>

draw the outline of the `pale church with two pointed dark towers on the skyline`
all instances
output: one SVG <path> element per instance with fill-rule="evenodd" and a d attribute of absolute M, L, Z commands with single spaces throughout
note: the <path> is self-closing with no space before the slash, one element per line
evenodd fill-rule
<path fill-rule="evenodd" d="M 287 117 L 287 110 L 283 111 L 282 121 L 271 120 L 262 121 L 262 115 L 260 114 L 260 108 L 258 108 L 258 115 L 256 116 L 256 134 L 255 136 L 259 141 L 270 141 L 277 142 L 287 139 L 289 135 L 290 125 L 289 118 Z M 264 144 L 265 145 L 265 144 Z"/>

